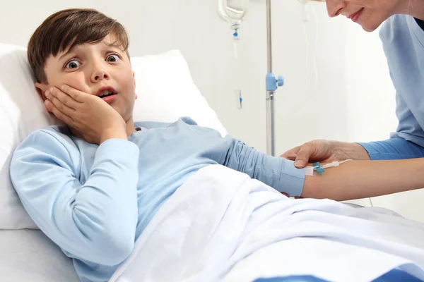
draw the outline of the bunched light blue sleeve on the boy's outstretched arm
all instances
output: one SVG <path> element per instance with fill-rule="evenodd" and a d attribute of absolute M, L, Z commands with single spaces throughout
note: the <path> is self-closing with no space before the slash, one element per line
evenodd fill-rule
<path fill-rule="evenodd" d="M 279 192 L 285 192 L 290 197 L 302 194 L 305 180 L 305 169 L 295 168 L 293 161 L 282 157 L 268 156 L 247 146 L 232 137 L 228 151 L 222 164 L 237 171 L 247 173 L 250 177 L 260 180 Z"/>

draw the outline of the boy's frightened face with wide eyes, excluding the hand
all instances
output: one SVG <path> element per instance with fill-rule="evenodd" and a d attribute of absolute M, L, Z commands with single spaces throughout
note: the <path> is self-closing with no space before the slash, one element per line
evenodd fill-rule
<path fill-rule="evenodd" d="M 114 38 L 107 35 L 98 43 L 77 45 L 57 56 L 49 56 L 45 73 L 48 84 L 59 89 L 66 84 L 93 95 L 98 95 L 102 87 L 113 89 L 117 93 L 115 98 L 105 101 L 124 121 L 129 121 L 136 99 L 134 72 L 125 51 L 112 43 Z"/>

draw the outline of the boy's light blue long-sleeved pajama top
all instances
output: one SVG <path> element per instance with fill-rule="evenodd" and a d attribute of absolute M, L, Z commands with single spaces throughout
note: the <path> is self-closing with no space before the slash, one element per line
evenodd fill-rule
<path fill-rule="evenodd" d="M 136 123 L 128 141 L 100 146 L 66 127 L 37 130 L 11 161 L 11 180 L 37 226 L 73 258 L 81 281 L 107 281 L 161 205 L 200 168 L 222 164 L 300 195 L 304 169 L 197 126 Z M 201 187 L 199 187 L 201 189 Z"/>

